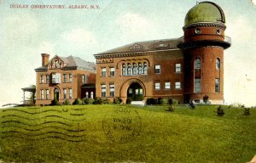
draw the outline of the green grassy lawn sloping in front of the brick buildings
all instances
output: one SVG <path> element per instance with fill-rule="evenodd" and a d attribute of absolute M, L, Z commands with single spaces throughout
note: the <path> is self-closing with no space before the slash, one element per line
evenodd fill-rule
<path fill-rule="evenodd" d="M 102 104 L 0 110 L 0 160 L 241 163 L 256 155 L 255 109 L 246 116 L 240 108 L 226 108 L 217 116 L 215 106 L 166 108 Z M 113 122 L 118 120 L 130 121 Z M 122 129 L 113 130 L 116 124 Z"/>

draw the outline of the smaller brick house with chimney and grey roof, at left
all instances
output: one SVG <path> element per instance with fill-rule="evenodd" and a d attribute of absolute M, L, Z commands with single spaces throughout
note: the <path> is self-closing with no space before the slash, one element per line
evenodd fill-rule
<path fill-rule="evenodd" d="M 36 104 L 50 104 L 54 98 L 61 103 L 68 99 L 94 98 L 96 83 L 96 65 L 78 57 L 60 57 L 55 55 L 49 60 L 49 54 L 42 53 L 42 66 L 37 73 Z"/>

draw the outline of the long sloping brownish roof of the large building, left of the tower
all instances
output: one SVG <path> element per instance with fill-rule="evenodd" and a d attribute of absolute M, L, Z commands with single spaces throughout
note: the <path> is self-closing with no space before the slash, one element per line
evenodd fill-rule
<path fill-rule="evenodd" d="M 97 53 L 95 55 L 112 54 L 112 53 L 134 53 L 147 52 L 163 49 L 177 49 L 177 38 L 165 40 L 152 40 L 144 42 L 133 42 L 119 48 L 113 48 L 108 51 Z"/>

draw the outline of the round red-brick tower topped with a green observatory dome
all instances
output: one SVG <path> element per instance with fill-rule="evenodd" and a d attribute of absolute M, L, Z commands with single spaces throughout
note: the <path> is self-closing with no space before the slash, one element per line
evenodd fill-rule
<path fill-rule="evenodd" d="M 216 3 L 201 2 L 191 8 L 183 26 L 184 36 L 178 48 L 184 55 L 184 102 L 213 104 L 224 102 L 224 49 L 231 45 L 222 8 Z"/>

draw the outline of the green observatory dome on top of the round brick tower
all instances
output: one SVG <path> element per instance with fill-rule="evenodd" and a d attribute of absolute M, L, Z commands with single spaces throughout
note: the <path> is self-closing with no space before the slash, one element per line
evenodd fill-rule
<path fill-rule="evenodd" d="M 225 23 L 224 12 L 218 4 L 212 2 L 197 3 L 189 10 L 185 18 L 185 25 L 219 22 Z"/>

